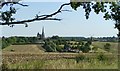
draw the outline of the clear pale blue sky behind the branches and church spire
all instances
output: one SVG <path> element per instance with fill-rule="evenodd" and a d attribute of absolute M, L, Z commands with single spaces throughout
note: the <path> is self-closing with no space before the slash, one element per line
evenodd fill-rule
<path fill-rule="evenodd" d="M 29 0 L 30 1 L 30 0 Z M 43 1 L 43 0 L 42 0 Z M 69 2 L 69 1 L 68 1 Z M 36 14 L 51 14 L 58 10 L 61 4 L 66 3 L 65 0 L 56 2 L 52 0 L 47 2 L 23 2 L 28 4 L 28 7 L 16 6 L 18 9 L 17 14 L 14 17 L 17 20 L 24 20 L 34 18 Z M 6 10 L 7 7 L 3 8 Z M 1 36 L 36 36 L 37 33 L 41 33 L 42 27 L 45 29 L 45 36 L 51 37 L 53 35 L 65 36 L 65 37 L 109 37 L 117 36 L 117 29 L 114 28 L 114 21 L 104 20 L 103 13 L 96 15 L 91 12 L 90 18 L 86 20 L 85 12 L 82 8 L 78 8 L 77 11 L 73 10 L 70 6 L 65 6 L 64 10 L 72 10 L 72 12 L 62 12 L 57 14 L 56 18 L 62 19 L 61 21 L 36 21 L 28 23 L 28 27 L 25 25 L 15 25 L 13 28 L 9 26 L 0 26 Z"/>

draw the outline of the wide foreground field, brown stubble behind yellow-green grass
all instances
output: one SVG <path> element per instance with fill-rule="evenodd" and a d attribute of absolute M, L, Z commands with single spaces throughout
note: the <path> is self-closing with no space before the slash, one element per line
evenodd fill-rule
<path fill-rule="evenodd" d="M 80 56 L 80 61 L 76 57 Z M 99 54 L 98 54 L 99 55 Z M 44 53 L 44 54 L 7 54 L 4 62 L 10 69 L 117 69 L 117 57 L 104 54 L 107 60 L 100 61 L 97 54 Z M 84 59 L 81 60 L 81 56 Z"/>

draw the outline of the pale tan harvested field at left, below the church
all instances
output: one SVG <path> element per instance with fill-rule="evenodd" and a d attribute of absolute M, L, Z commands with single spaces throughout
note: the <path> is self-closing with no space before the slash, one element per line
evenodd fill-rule
<path fill-rule="evenodd" d="M 38 44 L 28 44 L 28 45 L 10 45 L 3 49 L 3 53 L 43 53 L 44 49 Z"/>

